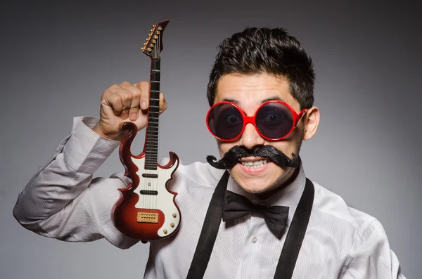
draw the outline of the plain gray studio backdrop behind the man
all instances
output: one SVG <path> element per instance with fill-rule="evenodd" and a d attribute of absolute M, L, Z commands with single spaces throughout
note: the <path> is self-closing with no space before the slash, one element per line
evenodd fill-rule
<path fill-rule="evenodd" d="M 160 157 L 217 155 L 205 86 L 222 39 L 286 27 L 312 56 L 321 124 L 302 147 L 307 176 L 376 216 L 407 278 L 421 278 L 421 8 L 417 1 L 2 1 L 0 278 L 142 278 L 148 245 L 68 243 L 22 228 L 18 192 L 103 90 L 148 79 L 141 46 L 164 19 Z M 101 4 L 100 4 L 101 3 Z M 143 136 L 136 138 L 140 152 Z M 123 171 L 113 153 L 98 171 Z"/>

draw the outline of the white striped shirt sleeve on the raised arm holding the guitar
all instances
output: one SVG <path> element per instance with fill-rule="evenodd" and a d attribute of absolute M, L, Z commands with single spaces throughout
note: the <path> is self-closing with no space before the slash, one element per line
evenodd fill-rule
<path fill-rule="evenodd" d="M 137 241 L 115 228 L 113 205 L 119 188 L 130 180 L 123 174 L 95 178 L 94 172 L 120 144 L 92 131 L 98 119 L 75 117 L 72 132 L 20 191 L 15 219 L 39 235 L 58 240 L 88 242 L 106 238 L 126 249 Z"/>

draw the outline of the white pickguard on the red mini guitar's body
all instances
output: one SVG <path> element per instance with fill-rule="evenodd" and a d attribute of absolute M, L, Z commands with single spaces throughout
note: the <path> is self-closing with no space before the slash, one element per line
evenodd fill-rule
<path fill-rule="evenodd" d="M 171 178 L 174 169 L 177 168 L 177 160 L 170 169 L 161 169 L 158 167 L 157 170 L 143 168 L 145 157 L 141 159 L 132 158 L 132 162 L 134 162 L 139 169 L 136 172 L 139 176 L 139 186 L 134 190 L 134 193 L 139 195 L 139 201 L 136 202 L 135 207 L 139 209 L 148 208 L 161 210 L 164 213 L 165 221 L 160 230 L 158 230 L 158 235 L 160 237 L 170 235 L 179 227 L 180 214 L 173 202 L 174 195 L 165 188 L 165 183 Z M 158 179 L 145 178 L 142 177 L 142 174 L 158 174 Z M 141 190 L 155 190 L 158 191 L 158 195 L 141 195 Z M 176 217 L 174 217 L 173 214 L 176 214 Z M 171 226 L 171 223 L 173 223 L 174 226 Z M 165 230 L 167 230 L 167 233 L 164 233 Z"/>

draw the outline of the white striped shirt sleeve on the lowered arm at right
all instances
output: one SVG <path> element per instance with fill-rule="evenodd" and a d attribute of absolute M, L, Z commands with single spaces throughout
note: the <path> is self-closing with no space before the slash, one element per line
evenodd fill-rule
<path fill-rule="evenodd" d="M 381 223 L 374 219 L 361 231 L 339 278 L 406 279 Z"/>

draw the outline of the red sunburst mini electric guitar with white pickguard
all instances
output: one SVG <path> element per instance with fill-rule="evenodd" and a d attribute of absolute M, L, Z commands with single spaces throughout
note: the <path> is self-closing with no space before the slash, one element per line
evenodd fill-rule
<path fill-rule="evenodd" d="M 120 144 L 120 161 L 125 176 L 132 179 L 127 188 L 119 189 L 121 196 L 113 208 L 116 228 L 129 238 L 160 240 L 174 234 L 180 225 L 180 210 L 174 202 L 177 193 L 167 189 L 167 183 L 179 167 L 179 157 L 170 152 L 170 162 L 158 164 L 158 115 L 160 98 L 160 53 L 162 33 L 169 20 L 153 25 L 142 51 L 151 58 L 148 122 L 143 151 L 132 155 L 131 145 L 137 128 L 125 122 L 128 134 Z"/>

